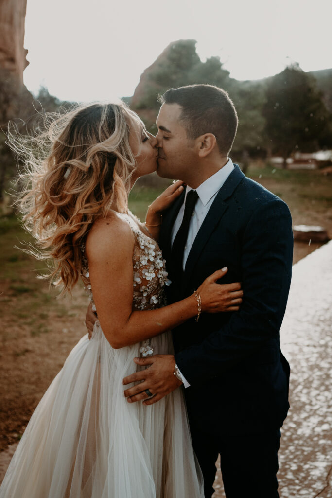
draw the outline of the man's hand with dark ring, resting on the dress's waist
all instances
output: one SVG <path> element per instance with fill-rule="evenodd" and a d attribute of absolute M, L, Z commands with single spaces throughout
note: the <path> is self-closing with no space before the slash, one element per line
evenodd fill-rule
<path fill-rule="evenodd" d="M 124 395 L 129 403 L 143 401 L 143 404 L 150 405 L 162 399 L 166 394 L 174 391 L 182 382 L 173 375 L 175 369 L 175 358 L 173 355 L 155 355 L 150 358 L 135 358 L 136 365 L 149 368 L 136 372 L 123 379 L 123 384 L 140 382 L 124 391 Z M 148 389 L 153 395 L 145 392 Z M 148 399 L 149 398 L 149 399 Z"/>

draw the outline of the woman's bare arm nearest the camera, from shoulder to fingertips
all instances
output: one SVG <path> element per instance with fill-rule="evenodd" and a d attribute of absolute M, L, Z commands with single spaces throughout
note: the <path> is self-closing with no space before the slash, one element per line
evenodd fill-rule
<path fill-rule="evenodd" d="M 86 242 L 98 319 L 113 348 L 149 339 L 198 314 L 195 294 L 164 308 L 133 310 L 133 249 L 132 231 L 119 219 L 100 221 L 92 228 Z M 199 288 L 202 311 L 238 309 L 241 300 L 239 284 L 214 283 L 224 273 L 222 270 L 215 272 Z"/>

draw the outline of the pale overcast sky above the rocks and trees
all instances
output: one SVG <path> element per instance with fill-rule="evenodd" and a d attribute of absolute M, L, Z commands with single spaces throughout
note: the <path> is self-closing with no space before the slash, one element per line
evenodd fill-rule
<path fill-rule="evenodd" d="M 143 70 L 178 39 L 230 76 L 259 79 L 297 61 L 332 67 L 331 0 L 27 0 L 24 71 L 63 100 L 130 96 Z"/>

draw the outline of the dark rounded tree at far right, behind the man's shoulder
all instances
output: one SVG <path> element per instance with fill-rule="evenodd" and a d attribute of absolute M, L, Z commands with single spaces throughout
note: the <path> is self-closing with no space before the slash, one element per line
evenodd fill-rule
<path fill-rule="evenodd" d="M 292 152 L 313 152 L 331 143 L 331 115 L 315 79 L 297 63 L 269 79 L 263 116 L 268 149 L 284 158 L 284 167 Z"/>

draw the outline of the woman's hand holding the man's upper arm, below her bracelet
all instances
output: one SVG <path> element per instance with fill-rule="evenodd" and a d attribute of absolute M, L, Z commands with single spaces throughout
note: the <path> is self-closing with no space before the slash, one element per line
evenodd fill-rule
<path fill-rule="evenodd" d="M 243 296 L 240 282 L 216 283 L 227 271 L 226 267 L 215 271 L 197 289 L 201 295 L 202 312 L 221 313 L 239 310 Z"/>

